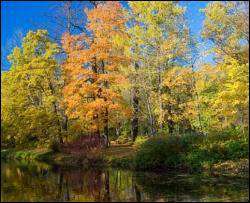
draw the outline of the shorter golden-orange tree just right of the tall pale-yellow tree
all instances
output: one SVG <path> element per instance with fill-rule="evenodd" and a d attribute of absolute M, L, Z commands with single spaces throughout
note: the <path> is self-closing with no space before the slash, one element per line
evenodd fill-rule
<path fill-rule="evenodd" d="M 197 116 L 193 79 L 191 68 L 173 67 L 165 72 L 162 99 L 164 121 L 168 123 L 170 134 L 174 131 L 174 124 L 181 131 L 192 129 L 192 121 Z"/>

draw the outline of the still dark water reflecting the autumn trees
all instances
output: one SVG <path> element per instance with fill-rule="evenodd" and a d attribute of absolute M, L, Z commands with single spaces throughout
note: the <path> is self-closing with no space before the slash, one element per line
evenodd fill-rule
<path fill-rule="evenodd" d="M 248 201 L 248 179 L 1 164 L 1 201 Z"/>

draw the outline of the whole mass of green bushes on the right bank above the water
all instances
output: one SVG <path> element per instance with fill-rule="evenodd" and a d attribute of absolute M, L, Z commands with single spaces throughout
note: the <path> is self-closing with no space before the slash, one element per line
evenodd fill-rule
<path fill-rule="evenodd" d="M 202 136 L 196 134 L 153 137 L 139 136 L 135 142 L 137 169 L 188 167 L 201 170 L 204 166 L 227 160 L 247 158 L 248 137 L 238 129 Z M 140 143 L 140 144 L 139 144 Z"/>

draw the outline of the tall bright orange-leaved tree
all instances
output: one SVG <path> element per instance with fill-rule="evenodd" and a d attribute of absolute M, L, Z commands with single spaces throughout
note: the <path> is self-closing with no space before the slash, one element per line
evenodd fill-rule
<path fill-rule="evenodd" d="M 109 146 L 109 126 L 130 114 L 120 88 L 126 79 L 119 71 L 128 58 L 113 43 L 117 36 L 126 37 L 126 18 L 119 2 L 95 4 L 85 12 L 89 33 L 65 34 L 62 40 L 68 55 L 65 103 L 71 118 L 80 119 L 87 132 L 104 133 Z"/>

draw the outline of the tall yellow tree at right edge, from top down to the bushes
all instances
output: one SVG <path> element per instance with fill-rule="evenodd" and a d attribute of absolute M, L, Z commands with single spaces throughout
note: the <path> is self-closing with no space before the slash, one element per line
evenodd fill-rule
<path fill-rule="evenodd" d="M 203 37 L 213 43 L 216 56 L 216 83 L 207 98 L 217 127 L 247 127 L 249 85 L 249 4 L 213 2 L 204 9 Z M 211 76 L 210 76 L 211 77 Z"/>

